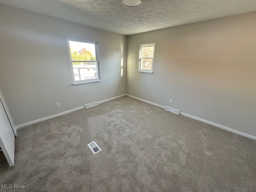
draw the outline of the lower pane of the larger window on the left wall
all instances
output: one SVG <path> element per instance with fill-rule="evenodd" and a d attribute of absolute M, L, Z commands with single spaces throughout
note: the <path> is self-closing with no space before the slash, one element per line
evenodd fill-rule
<path fill-rule="evenodd" d="M 98 78 L 97 62 L 72 62 L 75 81 Z"/>

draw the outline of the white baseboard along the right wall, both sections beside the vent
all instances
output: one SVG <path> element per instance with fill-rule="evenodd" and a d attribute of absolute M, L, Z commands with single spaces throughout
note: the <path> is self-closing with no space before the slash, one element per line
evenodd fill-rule
<path fill-rule="evenodd" d="M 138 98 L 138 97 L 134 97 L 134 96 L 129 95 L 129 94 L 126 94 L 126 95 L 129 96 L 129 97 L 131 97 L 131 98 L 134 98 L 134 99 L 137 99 L 137 100 L 140 100 L 140 101 L 143 101 L 143 102 L 152 104 L 152 105 L 154 105 L 154 106 L 158 106 L 158 107 L 160 107 L 160 108 L 165 108 L 165 107 L 162 106 L 162 105 L 159 105 L 159 104 L 156 104 L 156 103 L 153 103 L 153 102 L 150 102 L 150 101 L 147 101 L 147 100 Z M 210 121 L 208 121 L 208 120 L 201 119 L 201 118 L 199 118 L 199 117 L 195 117 L 195 116 L 192 116 L 192 115 L 183 113 L 183 112 L 180 112 L 180 114 L 183 115 L 183 116 L 186 116 L 186 117 L 189 117 L 189 118 L 192 118 L 192 119 L 195 119 L 195 120 L 198 120 L 198 121 L 201 121 L 201 122 L 204 122 L 204 123 L 207 123 L 207 124 L 216 126 L 216 127 L 218 127 L 218 128 L 227 130 L 227 131 L 229 131 L 229 132 L 232 132 L 232 133 L 235 133 L 235 134 L 238 134 L 238 135 L 242 135 L 242 136 L 244 136 L 244 137 L 247 137 L 247 138 L 256 140 L 256 136 L 252 136 L 252 135 L 249 135 L 249 134 L 246 134 L 246 133 L 243 133 L 243 132 L 240 132 L 240 131 L 237 131 L 237 130 L 228 128 L 228 127 L 226 127 L 226 126 L 223 126 L 223 125 L 220 125 L 220 124 L 217 124 L 217 123 L 214 123 L 214 122 L 210 122 Z"/>

